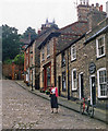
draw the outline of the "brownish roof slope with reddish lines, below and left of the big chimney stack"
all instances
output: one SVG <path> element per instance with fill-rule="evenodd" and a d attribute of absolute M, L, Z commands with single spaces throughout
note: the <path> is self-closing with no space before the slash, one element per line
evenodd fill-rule
<path fill-rule="evenodd" d="M 88 31 L 87 22 L 83 22 L 83 21 L 82 22 L 77 21 L 59 29 L 61 35 L 59 36 L 59 40 L 57 45 L 58 52 L 69 47 L 75 39 L 80 38 L 87 31 Z"/>

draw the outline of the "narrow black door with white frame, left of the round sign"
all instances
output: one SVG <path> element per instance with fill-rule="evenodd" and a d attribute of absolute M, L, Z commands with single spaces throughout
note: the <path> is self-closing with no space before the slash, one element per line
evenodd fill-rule
<path fill-rule="evenodd" d="M 79 79 L 80 79 L 80 99 L 81 99 L 81 98 L 84 98 L 84 79 L 83 79 L 83 73 L 80 73 Z"/>

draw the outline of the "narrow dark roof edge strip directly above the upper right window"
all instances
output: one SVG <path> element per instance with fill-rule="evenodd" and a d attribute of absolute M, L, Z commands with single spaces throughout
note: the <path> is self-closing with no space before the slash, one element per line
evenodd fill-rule
<path fill-rule="evenodd" d="M 99 36 L 100 34 L 105 33 L 108 29 L 108 25 L 103 27 L 101 29 L 99 29 L 98 32 L 96 32 L 94 35 L 92 35 L 88 39 L 86 39 L 86 41 L 84 44 L 89 43 L 91 40 L 93 40 L 95 37 Z"/>

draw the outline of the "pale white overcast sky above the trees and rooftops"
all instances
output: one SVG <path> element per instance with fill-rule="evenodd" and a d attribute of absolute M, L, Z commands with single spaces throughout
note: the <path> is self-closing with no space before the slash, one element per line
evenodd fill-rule
<path fill-rule="evenodd" d="M 28 26 L 37 32 L 46 19 L 61 28 L 77 21 L 76 1 L 80 0 L 0 0 L 0 25 L 16 27 L 23 34 Z M 108 0 L 89 0 L 99 3 L 106 11 Z"/>

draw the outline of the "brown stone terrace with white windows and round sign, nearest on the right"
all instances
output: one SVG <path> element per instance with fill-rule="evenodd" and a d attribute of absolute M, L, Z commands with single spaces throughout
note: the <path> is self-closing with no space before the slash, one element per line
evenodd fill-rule
<path fill-rule="evenodd" d="M 61 96 L 106 106 L 108 19 L 57 53 L 57 86 Z M 104 106 L 105 105 L 105 106 Z"/>

